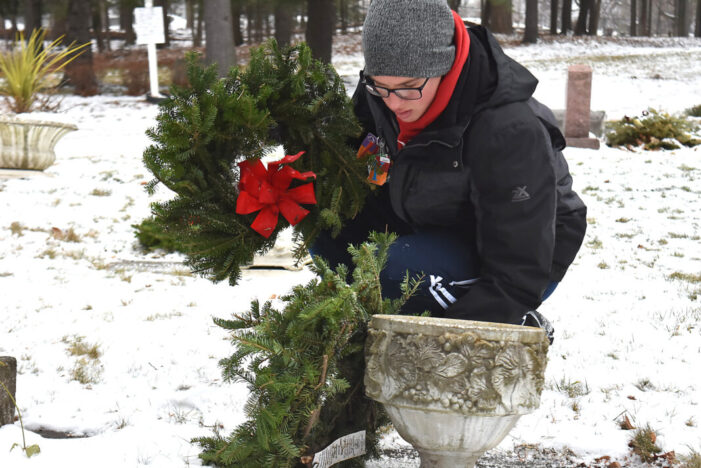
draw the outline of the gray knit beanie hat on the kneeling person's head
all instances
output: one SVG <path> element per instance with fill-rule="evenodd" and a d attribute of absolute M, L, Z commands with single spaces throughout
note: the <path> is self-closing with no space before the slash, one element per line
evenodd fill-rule
<path fill-rule="evenodd" d="M 363 24 L 365 74 L 433 77 L 455 60 L 446 0 L 372 0 Z"/>

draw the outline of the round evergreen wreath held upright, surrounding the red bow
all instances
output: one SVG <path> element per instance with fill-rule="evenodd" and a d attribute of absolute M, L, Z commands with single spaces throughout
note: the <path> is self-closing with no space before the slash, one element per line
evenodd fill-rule
<path fill-rule="evenodd" d="M 282 219 L 266 238 L 250 227 L 256 213 L 236 214 L 239 165 L 254 164 L 276 145 L 285 154 L 304 152 L 289 164 L 316 175 L 316 205 L 306 206 L 310 213 L 295 226 L 301 257 L 322 229 L 338 233 L 370 193 L 366 162 L 353 147 L 361 128 L 341 79 L 305 44 L 280 49 L 270 41 L 252 52 L 247 68 L 224 79 L 199 66 L 195 54 L 187 60 L 190 86 L 172 89 L 147 132 L 154 142 L 144 152 L 154 175 L 147 190 L 160 183 L 175 193 L 152 204 L 154 222 L 178 239 L 193 271 L 233 286 L 241 266 L 289 225 Z"/>

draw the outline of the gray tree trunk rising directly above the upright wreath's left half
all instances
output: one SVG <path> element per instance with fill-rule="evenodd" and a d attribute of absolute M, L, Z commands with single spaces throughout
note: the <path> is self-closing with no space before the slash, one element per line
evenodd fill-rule
<path fill-rule="evenodd" d="M 236 65 L 234 28 L 231 24 L 229 0 L 204 2 L 205 58 L 208 64 L 216 63 L 219 76 L 226 76 Z"/>

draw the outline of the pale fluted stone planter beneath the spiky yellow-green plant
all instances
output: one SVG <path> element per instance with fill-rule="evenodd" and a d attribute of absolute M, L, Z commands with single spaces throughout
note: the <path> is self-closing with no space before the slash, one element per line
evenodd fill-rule
<path fill-rule="evenodd" d="M 0 117 L 0 168 L 43 171 L 56 160 L 54 148 L 72 124 Z"/>

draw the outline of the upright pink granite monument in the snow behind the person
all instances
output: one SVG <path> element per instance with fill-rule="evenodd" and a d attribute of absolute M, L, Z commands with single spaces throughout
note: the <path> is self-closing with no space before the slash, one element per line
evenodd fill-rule
<path fill-rule="evenodd" d="M 589 138 L 591 77 L 589 65 L 571 65 L 567 69 L 567 108 L 565 140 L 567 146 L 599 149 L 599 140 Z"/>

